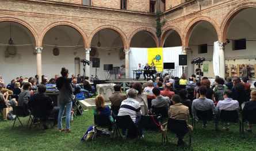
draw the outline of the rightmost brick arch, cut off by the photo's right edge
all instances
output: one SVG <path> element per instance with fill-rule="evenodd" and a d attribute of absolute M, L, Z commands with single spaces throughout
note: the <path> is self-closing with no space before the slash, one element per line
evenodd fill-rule
<path fill-rule="evenodd" d="M 248 9 L 248 8 L 256 8 L 256 2 L 246 2 L 246 3 L 242 3 L 238 6 L 235 6 L 234 9 L 232 9 L 226 17 L 224 17 L 224 21 L 221 23 L 221 29 L 220 29 L 220 33 L 221 33 L 221 38 L 220 41 L 221 42 L 226 42 L 227 39 L 227 33 L 228 33 L 228 28 L 230 27 L 230 23 L 233 20 L 233 18 L 242 10 L 244 9 Z"/>

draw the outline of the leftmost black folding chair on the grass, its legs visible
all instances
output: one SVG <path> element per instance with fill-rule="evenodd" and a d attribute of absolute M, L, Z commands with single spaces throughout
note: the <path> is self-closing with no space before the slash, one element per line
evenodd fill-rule
<path fill-rule="evenodd" d="M 18 121 L 20 121 L 21 126 L 23 126 L 20 117 L 28 117 L 28 124 L 27 126 L 29 126 L 29 122 L 30 120 L 32 121 L 32 117 L 31 114 L 24 108 L 24 106 L 13 106 L 13 114 L 16 115 L 16 117 L 14 118 L 14 122 L 13 122 L 13 127 L 15 125 L 16 119 L 18 119 Z"/>

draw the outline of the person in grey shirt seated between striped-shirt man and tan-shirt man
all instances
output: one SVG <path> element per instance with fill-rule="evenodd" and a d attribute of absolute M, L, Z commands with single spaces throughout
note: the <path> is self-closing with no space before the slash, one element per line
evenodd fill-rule
<path fill-rule="evenodd" d="M 167 96 L 162 96 L 159 88 L 153 88 L 153 94 L 155 99 L 152 99 L 152 108 L 165 107 L 167 110 L 171 104 L 170 99 Z"/>

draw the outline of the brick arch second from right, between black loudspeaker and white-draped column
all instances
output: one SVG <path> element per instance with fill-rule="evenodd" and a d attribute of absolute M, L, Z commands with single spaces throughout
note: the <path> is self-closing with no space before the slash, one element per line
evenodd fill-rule
<path fill-rule="evenodd" d="M 217 22 L 210 17 L 201 16 L 201 17 L 194 18 L 192 21 L 189 22 L 188 26 L 186 26 L 183 40 L 182 40 L 182 41 L 184 41 L 184 43 L 183 43 L 184 47 L 189 47 L 189 38 L 192 33 L 192 30 L 193 30 L 194 26 L 196 26 L 198 24 L 198 22 L 200 22 L 200 21 L 209 22 L 215 28 L 217 37 L 218 37 L 218 39 L 220 39 L 219 25 L 217 24 Z"/>

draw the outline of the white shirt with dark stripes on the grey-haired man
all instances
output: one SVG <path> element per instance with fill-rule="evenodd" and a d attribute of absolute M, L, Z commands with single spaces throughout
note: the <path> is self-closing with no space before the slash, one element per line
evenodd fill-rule
<path fill-rule="evenodd" d="M 140 103 L 132 98 L 127 98 L 121 103 L 118 116 L 129 115 L 133 122 L 136 122 L 136 117 L 141 115 Z"/>

